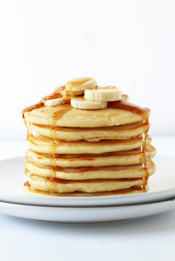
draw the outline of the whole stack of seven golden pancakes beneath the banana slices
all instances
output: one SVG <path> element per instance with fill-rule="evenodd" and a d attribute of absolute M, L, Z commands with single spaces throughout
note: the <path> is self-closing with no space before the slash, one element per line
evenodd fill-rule
<path fill-rule="evenodd" d="M 24 117 L 39 133 L 28 141 L 27 194 L 101 196 L 148 191 L 156 149 L 148 134 L 144 153 L 141 149 L 146 128 L 141 115 L 60 104 L 36 107 Z"/>

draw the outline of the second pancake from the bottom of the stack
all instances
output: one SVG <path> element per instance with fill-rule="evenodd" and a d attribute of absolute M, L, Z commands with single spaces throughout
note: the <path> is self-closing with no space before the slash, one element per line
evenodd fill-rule
<path fill-rule="evenodd" d="M 28 183 L 32 188 L 49 192 L 102 192 L 144 185 L 143 179 L 96 179 L 96 180 L 63 180 L 45 178 L 31 174 Z"/>

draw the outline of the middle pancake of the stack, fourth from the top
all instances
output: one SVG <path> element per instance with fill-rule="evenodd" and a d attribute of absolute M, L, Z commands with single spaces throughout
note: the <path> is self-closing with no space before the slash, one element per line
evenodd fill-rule
<path fill-rule="evenodd" d="M 155 147 L 151 144 L 147 145 L 145 154 L 147 161 L 150 161 L 156 155 Z M 52 158 L 50 154 L 39 153 L 29 149 L 26 152 L 26 157 L 32 158 L 42 165 L 51 165 Z M 54 157 L 55 166 L 62 168 L 134 165 L 143 163 L 141 148 L 101 154 L 55 154 Z"/>

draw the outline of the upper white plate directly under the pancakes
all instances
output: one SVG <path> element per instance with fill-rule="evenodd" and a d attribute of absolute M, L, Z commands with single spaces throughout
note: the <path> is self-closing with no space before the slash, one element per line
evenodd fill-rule
<path fill-rule="evenodd" d="M 155 203 L 175 199 L 174 157 L 156 156 L 156 173 L 149 179 L 147 193 L 112 195 L 103 197 L 39 197 L 26 195 L 22 186 L 27 181 L 21 173 L 25 168 L 25 157 L 0 161 L 0 201 L 35 205 L 62 207 L 126 206 Z"/>

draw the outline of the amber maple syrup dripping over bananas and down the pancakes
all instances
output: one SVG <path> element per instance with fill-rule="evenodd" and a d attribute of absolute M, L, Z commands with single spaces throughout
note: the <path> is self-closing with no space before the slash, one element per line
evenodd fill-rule
<path fill-rule="evenodd" d="M 78 86 L 81 85 L 83 83 L 85 83 L 86 81 L 89 81 L 93 78 L 87 78 L 87 77 L 82 77 L 82 78 L 77 78 L 77 79 L 73 79 L 70 80 L 66 83 L 65 86 L 61 86 L 59 89 L 55 90 L 55 92 L 49 94 L 48 96 L 42 98 L 42 100 L 37 103 L 34 104 L 30 107 L 25 108 L 22 111 L 22 118 L 26 124 L 27 127 L 27 140 L 33 139 L 34 136 L 32 134 L 32 128 L 31 128 L 31 124 L 30 122 L 26 121 L 25 117 L 24 117 L 24 113 L 25 112 L 30 112 L 34 109 L 38 109 L 44 106 L 44 102 L 48 99 L 57 99 L 57 98 L 61 98 L 62 94 L 61 91 L 66 90 L 66 96 L 63 98 L 62 104 L 60 105 L 56 105 L 55 108 L 52 110 L 48 121 L 50 122 L 50 125 L 52 126 L 51 128 L 51 137 L 53 139 L 53 142 L 50 144 L 49 146 L 49 152 L 51 155 L 51 160 L 50 160 L 50 165 L 51 165 L 51 170 L 50 170 L 50 178 L 46 178 L 45 182 L 46 185 L 49 188 L 49 191 L 52 195 L 52 191 L 53 191 L 53 187 L 55 186 L 55 182 L 59 182 L 59 183 L 67 183 L 66 180 L 61 180 L 61 179 L 55 179 L 55 173 L 56 173 L 56 158 L 55 158 L 55 147 L 56 147 L 56 134 L 55 134 L 55 123 L 57 120 L 59 120 L 67 111 L 69 111 L 72 106 L 70 105 L 70 101 L 71 101 L 71 89 L 73 86 Z M 128 95 L 124 95 L 126 97 L 129 97 Z M 143 125 L 145 127 L 145 131 L 143 133 L 143 145 L 141 146 L 141 155 L 142 155 L 142 162 L 143 162 L 143 172 L 144 172 L 144 178 L 143 178 L 143 185 L 141 187 L 142 192 L 145 192 L 146 189 L 146 185 L 147 185 L 147 181 L 148 181 L 148 169 L 146 167 L 146 155 L 145 155 L 145 146 L 146 146 L 146 137 L 147 137 L 147 133 L 149 130 L 149 110 L 147 108 L 142 108 L 136 104 L 130 103 L 130 102 L 126 102 L 124 100 L 119 100 L 119 101 L 114 101 L 114 102 L 108 102 L 108 108 L 114 108 L 114 109 L 122 109 L 122 110 L 127 110 L 127 111 L 131 111 L 135 114 L 139 114 L 142 116 L 143 118 Z M 27 156 L 27 155 L 26 155 Z M 27 157 L 26 157 L 27 158 Z M 28 174 L 28 170 L 26 168 L 27 163 L 30 161 L 30 159 L 27 158 L 26 161 L 26 165 L 25 165 L 25 173 Z M 53 182 L 54 181 L 54 182 Z M 30 186 L 30 184 L 28 183 L 28 181 L 25 183 L 25 186 Z"/>

